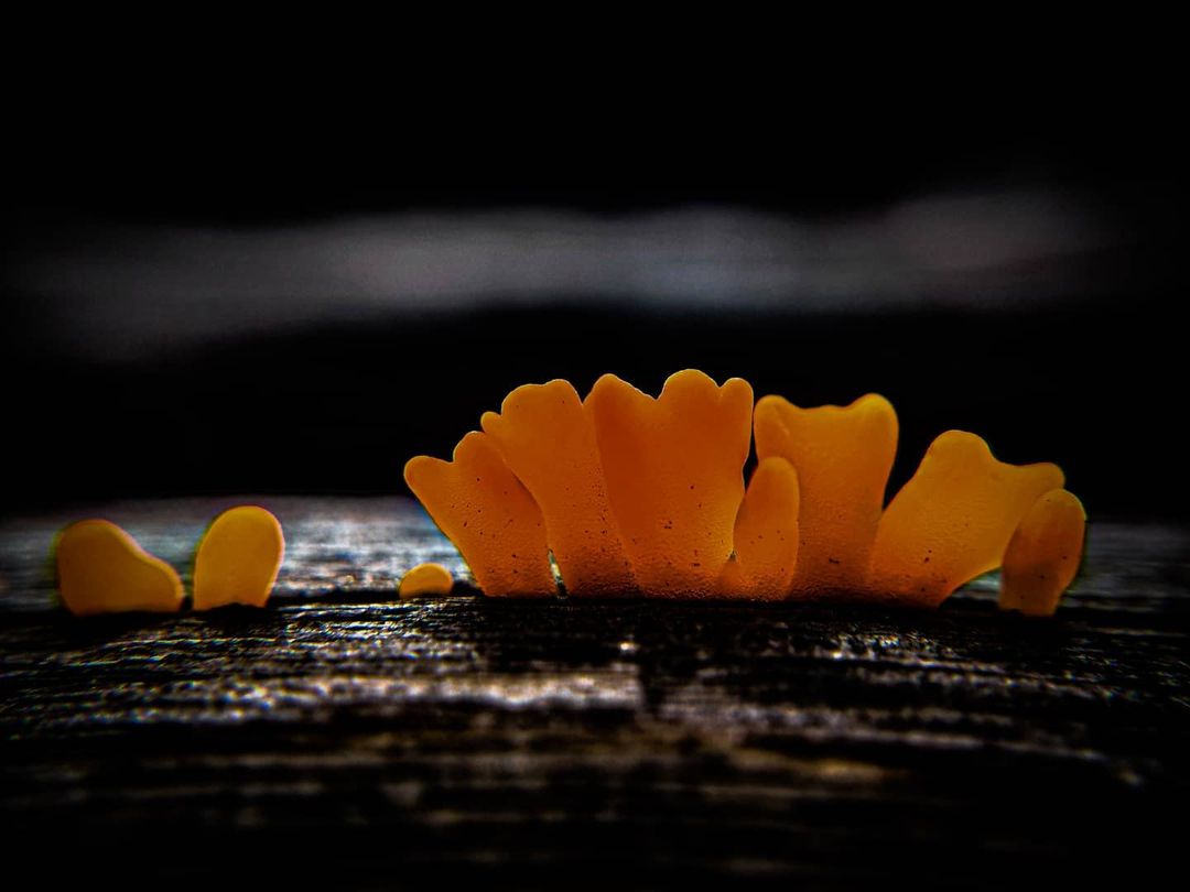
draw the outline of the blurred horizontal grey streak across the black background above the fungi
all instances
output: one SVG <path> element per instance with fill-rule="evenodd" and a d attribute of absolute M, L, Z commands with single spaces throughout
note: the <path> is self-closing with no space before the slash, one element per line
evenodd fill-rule
<path fill-rule="evenodd" d="M 482 306 L 981 309 L 1119 287 L 1127 233 L 1057 193 L 925 197 L 881 213 L 406 213 L 289 227 L 74 221 L 14 258 L 27 337 L 124 359 L 312 325 Z"/>

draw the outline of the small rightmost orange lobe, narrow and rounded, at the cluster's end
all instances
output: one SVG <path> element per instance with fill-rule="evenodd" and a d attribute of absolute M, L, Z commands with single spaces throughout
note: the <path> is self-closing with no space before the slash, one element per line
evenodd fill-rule
<path fill-rule="evenodd" d="M 1000 607 L 1051 616 L 1078 572 L 1086 534 L 1083 504 L 1064 489 L 1039 498 L 1004 552 Z"/>

